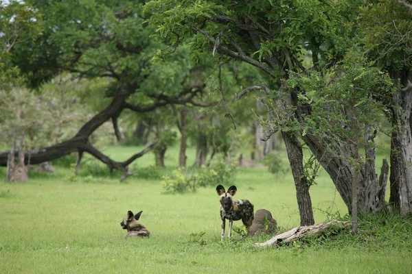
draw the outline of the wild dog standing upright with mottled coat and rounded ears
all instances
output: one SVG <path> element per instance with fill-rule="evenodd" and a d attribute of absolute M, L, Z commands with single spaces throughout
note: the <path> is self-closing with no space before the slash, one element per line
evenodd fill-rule
<path fill-rule="evenodd" d="M 216 187 L 216 192 L 220 197 L 220 218 L 222 219 L 222 235 L 220 240 L 225 238 L 226 219 L 229 220 L 229 233 L 227 237 L 231 237 L 231 229 L 233 221 L 242 219 L 242 223 L 247 227 L 253 222 L 253 204 L 248 200 L 233 200 L 238 189 L 236 186 L 231 186 L 227 192 L 222 185 Z"/>

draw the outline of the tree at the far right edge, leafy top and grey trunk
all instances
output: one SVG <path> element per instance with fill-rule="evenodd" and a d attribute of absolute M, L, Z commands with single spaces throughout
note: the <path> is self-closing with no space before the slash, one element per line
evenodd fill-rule
<path fill-rule="evenodd" d="M 367 54 L 389 73 L 394 85 L 391 97 L 383 101 L 393 127 L 389 202 L 405 216 L 412 211 L 411 9 L 405 1 L 378 1 L 366 5 L 361 16 Z"/>

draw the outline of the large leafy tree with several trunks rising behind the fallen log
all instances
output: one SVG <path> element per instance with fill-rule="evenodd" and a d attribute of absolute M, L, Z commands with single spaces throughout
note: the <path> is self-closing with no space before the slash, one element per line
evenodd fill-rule
<path fill-rule="evenodd" d="M 271 80 L 242 90 L 240 99 L 252 90 L 264 90 L 273 105 L 272 125 L 268 136 L 282 133 L 297 190 L 301 225 L 314 223 L 309 195 L 310 178 L 304 171 L 302 144 L 304 141 L 325 171 L 328 172 L 345 205 L 352 212 L 352 180 L 358 173 L 359 211 L 379 212 L 385 206 L 385 186 L 375 173 L 374 129 L 364 132 L 365 162 L 352 161 L 357 146 L 336 140 L 334 133 L 317 134 L 308 126 L 308 117 L 319 115 L 312 102 L 306 100 L 305 88 L 291 85 L 295 75 L 330 77 L 330 83 L 345 71 L 339 61 L 351 46 L 360 3 L 347 1 L 174 1 L 152 0 L 146 9 L 152 13 L 149 21 L 157 26 L 161 36 L 174 45 L 184 36 L 198 37 L 194 50 L 209 51 L 247 62 L 267 73 Z M 304 56 L 310 51 L 310 67 Z M 362 64 L 363 65 L 363 64 Z M 367 66 L 364 66 L 367 69 Z M 369 95 L 370 96 L 370 95 Z M 316 97 L 312 98 L 316 99 Z M 319 105 L 318 105 L 319 106 Z M 324 105 L 323 112 L 330 104 Z M 346 121 L 350 121 L 347 119 Z M 353 128 L 352 123 L 343 127 Z M 387 171 L 386 171 L 387 172 Z"/>

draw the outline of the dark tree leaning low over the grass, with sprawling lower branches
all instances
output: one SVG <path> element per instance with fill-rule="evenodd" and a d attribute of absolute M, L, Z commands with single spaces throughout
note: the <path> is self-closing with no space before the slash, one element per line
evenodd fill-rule
<path fill-rule="evenodd" d="M 111 171 L 118 169 L 128 175 L 128 165 L 155 147 L 156 142 L 135 153 L 124 162 L 112 160 L 94 147 L 89 137 L 106 121 L 112 121 L 119 136 L 118 118 L 123 110 L 150 112 L 164 105 L 207 105 L 196 98 L 204 84 L 190 81 L 190 64 L 183 64 L 174 78 L 163 77 L 170 86 L 152 89 L 147 81 L 161 79 L 172 63 L 152 66 L 152 56 L 162 48 L 152 38 L 154 29 L 145 24 L 142 3 L 136 1 L 27 1 L 43 18 L 36 18 L 42 35 L 33 43 L 20 43 L 11 51 L 12 60 L 27 76 L 32 87 L 38 87 L 58 73 L 67 71 L 81 79 L 108 79 L 104 97 L 110 98 L 76 133 L 56 145 L 28 151 L 31 164 L 54 160 L 69 153 L 78 153 L 76 169 L 84 152 L 104 162 Z M 172 58 L 172 57 L 171 57 Z M 170 58 L 170 59 L 171 59 Z M 157 76 L 156 76 L 157 75 Z M 79 106 L 81 107 L 81 106 Z M 28 157 L 30 154 L 30 157 Z M 7 164 L 8 152 L 0 153 L 0 166 Z"/>

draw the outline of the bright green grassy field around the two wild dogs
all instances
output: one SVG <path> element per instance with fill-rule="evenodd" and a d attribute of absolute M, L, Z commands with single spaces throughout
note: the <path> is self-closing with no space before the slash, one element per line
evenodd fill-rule
<path fill-rule="evenodd" d="M 106 153 L 124 160 L 134 151 L 139 148 L 112 147 Z M 168 154 L 163 173 L 176 168 L 176 151 Z M 149 153 L 133 168 L 153 162 Z M 356 236 L 256 249 L 253 242 L 271 236 L 244 239 L 235 233 L 220 242 L 216 186 L 166 195 L 161 179 L 133 175 L 119 183 L 119 173 L 109 175 L 93 160 L 84 163 L 79 177 L 56 169 L 33 172 L 25 184 L 0 183 L 0 273 L 412 273 L 410 219 L 378 216 L 362 221 Z M 270 210 L 280 229 L 299 225 L 291 175 L 240 169 L 235 184 L 236 197 L 252 201 L 255 210 Z M 324 171 L 310 194 L 316 223 L 345 215 Z M 127 210 L 143 210 L 140 221 L 150 238 L 124 239 L 119 223 Z"/>

